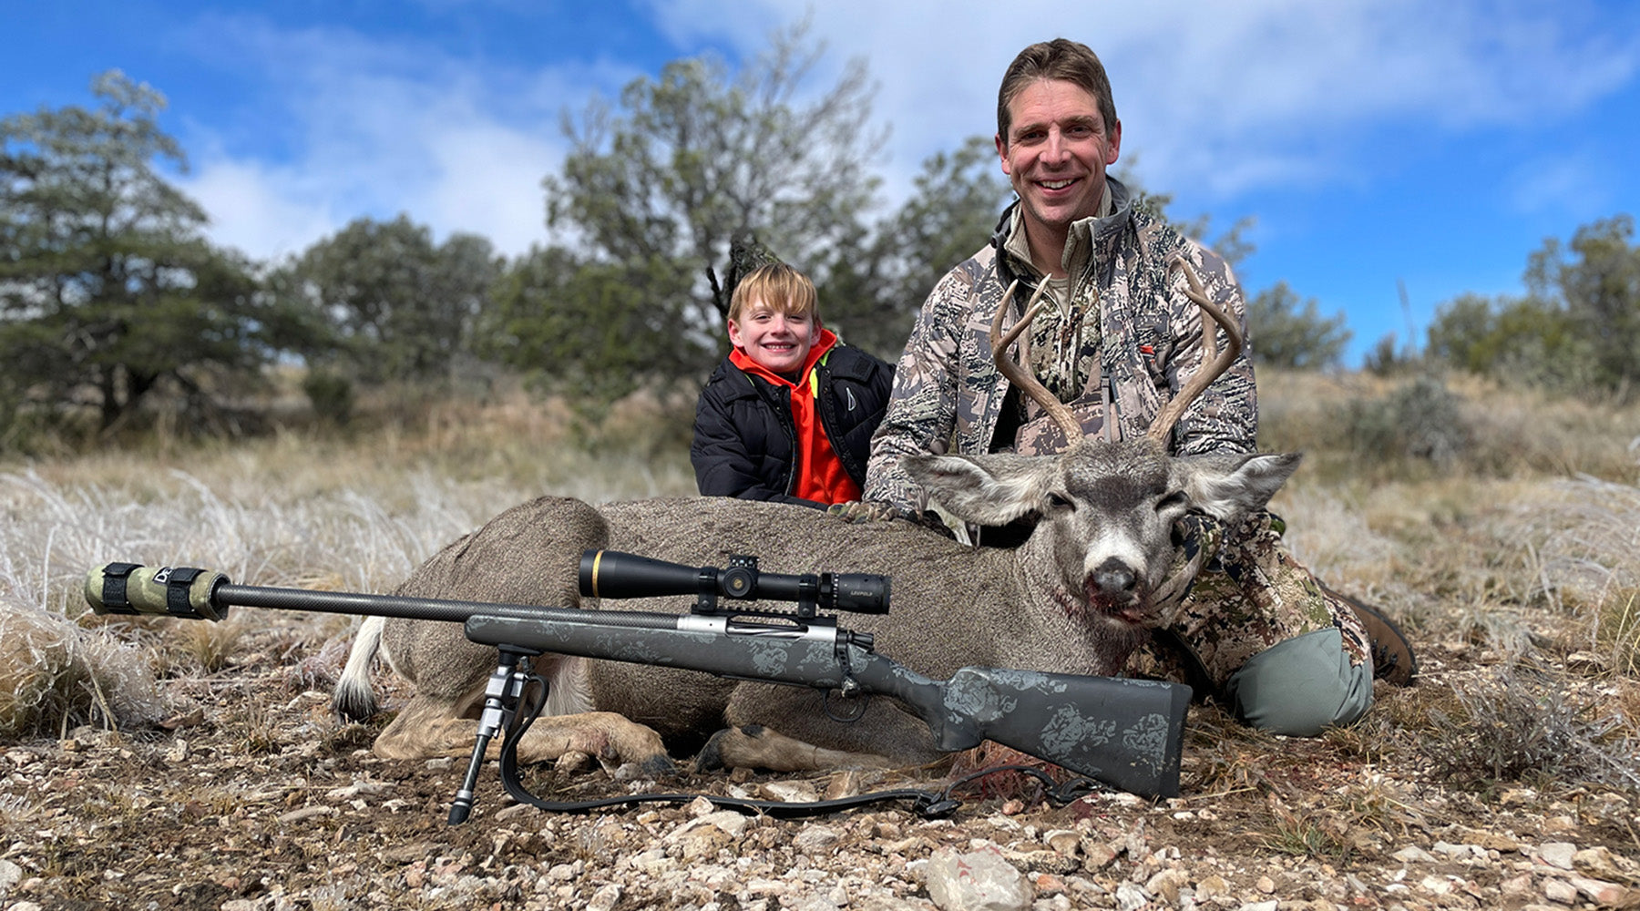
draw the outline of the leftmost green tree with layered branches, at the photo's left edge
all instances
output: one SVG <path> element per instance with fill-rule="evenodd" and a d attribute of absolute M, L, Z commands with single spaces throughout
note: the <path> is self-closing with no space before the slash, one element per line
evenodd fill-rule
<path fill-rule="evenodd" d="M 118 70 L 92 93 L 95 108 L 0 120 L 0 388 L 92 405 L 108 429 L 161 383 L 208 401 L 254 375 L 279 320 L 161 177 L 187 164 L 159 128 L 164 97 Z"/>

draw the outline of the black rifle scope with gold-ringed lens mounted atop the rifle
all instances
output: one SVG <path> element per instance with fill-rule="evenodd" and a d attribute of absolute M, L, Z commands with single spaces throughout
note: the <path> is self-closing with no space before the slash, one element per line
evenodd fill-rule
<path fill-rule="evenodd" d="M 581 555 L 581 593 L 594 598 L 722 595 L 736 601 L 812 603 L 825 611 L 889 613 L 889 577 L 863 572 L 786 575 L 758 572 L 758 557 L 735 555 L 728 569 L 686 567 L 620 551 Z"/>

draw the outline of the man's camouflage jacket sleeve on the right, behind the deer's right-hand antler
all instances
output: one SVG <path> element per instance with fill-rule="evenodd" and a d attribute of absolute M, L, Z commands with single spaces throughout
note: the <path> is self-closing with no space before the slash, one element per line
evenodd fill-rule
<path fill-rule="evenodd" d="M 1219 254 L 1194 242 L 1186 242 L 1184 256 L 1200 277 L 1207 297 L 1237 321 L 1241 338 L 1248 338 L 1246 300 L 1241 297 L 1241 285 L 1237 283 L 1230 264 Z M 1202 344 L 1202 323 L 1214 326 L 1214 351 L 1223 351 L 1228 338 L 1222 328 L 1205 316 L 1189 297 L 1184 295 L 1186 280 L 1179 270 L 1169 279 L 1168 298 L 1174 303 L 1174 349 L 1166 364 L 1168 388 L 1178 393 L 1202 365 L 1210 360 L 1212 352 Z M 1258 392 L 1253 383 L 1251 342 L 1243 346 L 1241 354 L 1230 364 L 1230 369 L 1214 380 L 1179 419 L 1173 431 L 1173 451 L 1176 456 L 1199 456 L 1202 452 L 1253 452 L 1258 439 Z"/>

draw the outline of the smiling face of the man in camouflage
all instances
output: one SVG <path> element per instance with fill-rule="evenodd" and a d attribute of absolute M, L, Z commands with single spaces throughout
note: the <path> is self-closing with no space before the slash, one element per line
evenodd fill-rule
<path fill-rule="evenodd" d="M 1115 164 L 1122 125 L 1107 129 L 1099 102 L 1074 82 L 1043 79 L 1009 103 L 1007 136 L 997 136 L 1002 174 L 1023 200 L 1027 234 L 1058 238 L 1099 211 L 1105 167 Z"/>

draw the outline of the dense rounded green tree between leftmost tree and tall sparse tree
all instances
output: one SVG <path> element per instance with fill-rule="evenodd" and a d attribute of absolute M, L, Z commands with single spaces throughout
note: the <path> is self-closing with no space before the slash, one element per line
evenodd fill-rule
<path fill-rule="evenodd" d="M 289 264 L 279 285 L 333 328 L 313 364 L 343 360 L 369 382 L 438 380 L 467 351 L 502 261 L 476 234 L 433 242 L 425 224 L 358 218 Z"/>

